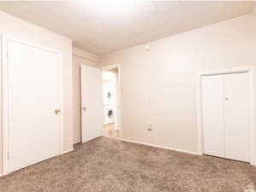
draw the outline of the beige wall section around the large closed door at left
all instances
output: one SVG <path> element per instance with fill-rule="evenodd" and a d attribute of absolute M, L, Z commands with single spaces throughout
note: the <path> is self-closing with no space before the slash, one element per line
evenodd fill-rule
<path fill-rule="evenodd" d="M 0 11 L 0 34 L 63 52 L 63 150 L 71 150 L 73 148 L 72 41 L 2 11 Z M 0 105 L 2 105 L 1 102 Z M 2 117 L 1 114 L 0 117 Z M 0 134 L 2 135 L 2 126 L 0 127 Z M 2 140 L 2 137 L 0 138 Z M 2 145 L 2 141 L 0 141 L 0 144 Z M 2 146 L 0 146 L 1 172 Z"/>

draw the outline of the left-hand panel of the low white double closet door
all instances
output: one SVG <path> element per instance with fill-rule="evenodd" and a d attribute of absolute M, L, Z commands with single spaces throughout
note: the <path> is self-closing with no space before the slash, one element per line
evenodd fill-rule
<path fill-rule="evenodd" d="M 223 157 L 223 77 L 221 75 L 202 78 L 202 106 L 204 153 Z"/>

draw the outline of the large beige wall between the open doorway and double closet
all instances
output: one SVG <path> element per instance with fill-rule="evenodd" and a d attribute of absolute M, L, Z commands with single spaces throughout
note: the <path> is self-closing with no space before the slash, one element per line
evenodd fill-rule
<path fill-rule="evenodd" d="M 121 65 L 122 138 L 198 151 L 196 74 L 256 65 L 256 15 L 102 57 Z M 147 124 L 152 123 L 152 131 Z"/>

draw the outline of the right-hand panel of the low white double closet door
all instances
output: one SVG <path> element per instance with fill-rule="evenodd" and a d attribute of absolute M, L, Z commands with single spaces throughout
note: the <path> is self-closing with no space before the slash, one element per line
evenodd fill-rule
<path fill-rule="evenodd" d="M 225 158 L 249 161 L 249 75 L 223 75 Z"/>

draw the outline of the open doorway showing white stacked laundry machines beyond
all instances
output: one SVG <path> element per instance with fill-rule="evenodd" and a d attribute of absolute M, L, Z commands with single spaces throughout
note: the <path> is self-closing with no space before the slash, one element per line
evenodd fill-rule
<path fill-rule="evenodd" d="M 119 71 L 118 67 L 103 69 L 104 137 L 119 137 Z"/>

